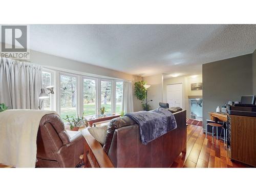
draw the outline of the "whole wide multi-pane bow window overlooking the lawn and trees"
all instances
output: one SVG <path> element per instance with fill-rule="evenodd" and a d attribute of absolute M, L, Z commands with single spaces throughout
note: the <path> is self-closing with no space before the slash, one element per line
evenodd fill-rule
<path fill-rule="evenodd" d="M 123 82 L 43 69 L 42 88 L 54 86 L 54 94 L 44 100 L 45 110 L 57 111 L 60 117 L 99 114 L 101 106 L 106 113 L 122 110 Z"/>

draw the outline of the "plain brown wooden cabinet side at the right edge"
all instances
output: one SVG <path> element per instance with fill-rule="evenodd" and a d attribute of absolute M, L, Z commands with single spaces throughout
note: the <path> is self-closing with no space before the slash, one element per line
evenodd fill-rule
<path fill-rule="evenodd" d="M 256 117 L 230 115 L 231 159 L 256 166 Z"/>

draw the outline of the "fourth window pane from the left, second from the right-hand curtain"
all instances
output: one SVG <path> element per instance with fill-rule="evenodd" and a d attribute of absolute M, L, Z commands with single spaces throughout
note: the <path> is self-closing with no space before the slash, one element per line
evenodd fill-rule
<path fill-rule="evenodd" d="M 104 106 L 106 113 L 111 113 L 112 82 L 101 80 L 101 107 Z"/>

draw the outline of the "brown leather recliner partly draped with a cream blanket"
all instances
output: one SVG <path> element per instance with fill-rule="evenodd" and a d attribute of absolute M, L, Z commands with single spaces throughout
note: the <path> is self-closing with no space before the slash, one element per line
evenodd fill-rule
<path fill-rule="evenodd" d="M 37 133 L 36 167 L 75 167 L 81 162 L 83 140 L 81 132 L 70 138 L 58 115 L 45 115 Z"/>

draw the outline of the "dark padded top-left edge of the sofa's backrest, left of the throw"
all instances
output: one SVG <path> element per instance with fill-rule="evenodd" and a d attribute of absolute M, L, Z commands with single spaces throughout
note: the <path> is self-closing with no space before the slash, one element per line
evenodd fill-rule
<path fill-rule="evenodd" d="M 129 126 L 134 124 L 136 124 L 136 122 L 130 119 L 129 117 L 118 117 L 110 121 L 108 130 L 106 130 L 106 137 L 103 145 L 103 150 L 106 152 L 106 154 L 109 153 L 110 145 L 111 145 L 115 130 L 123 126 Z"/>

